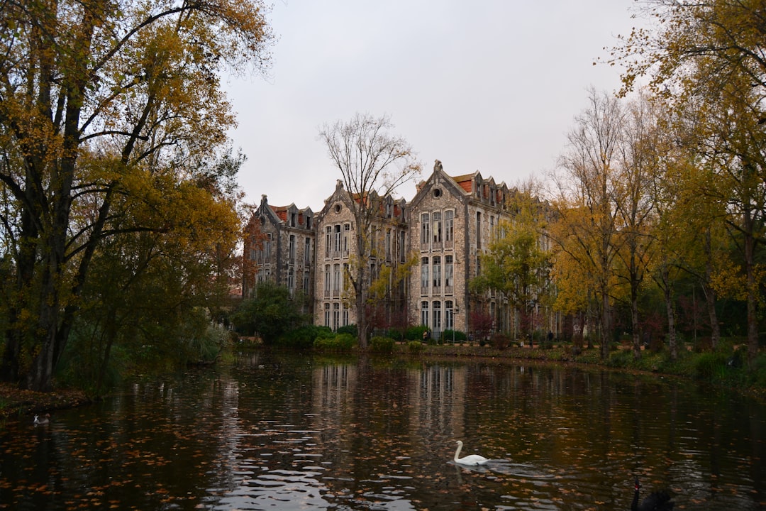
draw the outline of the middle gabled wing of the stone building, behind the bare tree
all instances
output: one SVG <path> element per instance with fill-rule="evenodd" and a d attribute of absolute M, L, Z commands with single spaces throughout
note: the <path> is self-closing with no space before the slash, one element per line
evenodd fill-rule
<path fill-rule="evenodd" d="M 358 264 L 356 225 L 354 211 L 358 207 L 358 197 L 343 188 L 342 182 L 336 182 L 336 189 L 326 198 L 322 211 L 316 215 L 316 293 L 314 295 L 314 323 L 329 326 L 333 330 L 339 326 L 356 323 L 354 300 L 348 280 L 349 270 Z M 380 212 L 373 222 L 372 236 L 374 244 L 372 257 L 365 264 L 368 282 L 372 285 L 381 275 L 384 267 L 395 268 L 404 263 L 407 257 L 407 221 L 404 199 L 391 197 L 373 198 L 380 203 Z M 391 277 L 393 279 L 393 277 Z M 391 321 L 394 316 L 406 316 L 406 294 L 404 283 L 391 286 L 386 290 L 384 300 L 374 313 L 383 315 L 382 320 Z"/>

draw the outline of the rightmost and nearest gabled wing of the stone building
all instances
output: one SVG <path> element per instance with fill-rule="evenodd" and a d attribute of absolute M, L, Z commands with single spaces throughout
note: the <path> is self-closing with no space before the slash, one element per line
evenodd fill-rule
<path fill-rule="evenodd" d="M 501 296 L 470 293 L 468 283 L 480 272 L 480 254 L 502 220 L 512 191 L 480 172 L 450 176 L 437 160 L 434 172 L 418 185 L 412 199 L 409 225 L 411 251 L 418 254 L 413 268 L 409 303 L 414 323 L 428 326 L 432 335 L 446 329 L 470 332 L 472 319 L 488 316 L 493 329 L 507 329 L 509 311 Z"/>

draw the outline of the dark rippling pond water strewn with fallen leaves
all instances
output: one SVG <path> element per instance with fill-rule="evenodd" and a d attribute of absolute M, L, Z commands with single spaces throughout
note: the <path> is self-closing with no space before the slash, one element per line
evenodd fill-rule
<path fill-rule="evenodd" d="M 764 405 L 549 366 L 268 352 L 0 431 L 0 509 L 761 509 Z M 476 468 L 451 461 L 492 460 Z"/>

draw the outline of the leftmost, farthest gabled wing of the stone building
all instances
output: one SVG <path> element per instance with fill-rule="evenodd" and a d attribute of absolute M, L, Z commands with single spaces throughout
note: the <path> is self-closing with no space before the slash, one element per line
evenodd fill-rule
<path fill-rule="evenodd" d="M 270 281 L 305 297 L 304 312 L 312 313 L 316 228 L 311 208 L 272 206 L 261 195 L 246 233 L 243 296 L 253 296 L 257 283 Z"/>

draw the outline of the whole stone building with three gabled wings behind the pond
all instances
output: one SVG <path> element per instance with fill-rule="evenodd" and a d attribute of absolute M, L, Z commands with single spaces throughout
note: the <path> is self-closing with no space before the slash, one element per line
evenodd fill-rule
<path fill-rule="evenodd" d="M 382 271 L 389 281 L 385 296 L 376 300 L 378 310 L 368 311 L 368 317 L 389 325 L 427 326 L 436 337 L 449 329 L 480 330 L 478 323 L 490 325 L 485 330 L 512 331 L 515 317 L 502 295 L 492 290 L 473 293 L 469 284 L 480 274 L 480 256 L 489 251 L 499 224 L 515 214 L 516 193 L 478 171 L 447 175 L 437 160 L 409 204 L 376 197 L 381 206 L 368 233 L 374 243 L 372 256 L 364 262 L 369 265 L 365 285 L 372 286 Z M 264 195 L 250 219 L 260 228 L 260 242 L 257 237 L 245 241 L 245 259 L 250 259 L 246 263 L 254 270 L 243 286 L 244 296 L 263 280 L 291 290 L 300 285 L 316 325 L 336 330 L 354 324 L 348 279 L 352 264 L 359 264 L 357 206 L 358 198 L 340 181 L 316 218 L 310 208 L 270 206 Z M 396 277 L 397 268 L 405 264 L 411 268 L 407 277 Z"/>

